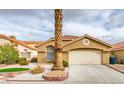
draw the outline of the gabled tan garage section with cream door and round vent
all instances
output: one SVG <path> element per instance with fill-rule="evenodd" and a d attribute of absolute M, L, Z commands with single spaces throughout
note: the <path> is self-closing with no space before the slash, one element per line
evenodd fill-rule
<path fill-rule="evenodd" d="M 109 64 L 110 48 L 110 44 L 84 35 L 63 46 L 63 60 L 69 64 Z"/>

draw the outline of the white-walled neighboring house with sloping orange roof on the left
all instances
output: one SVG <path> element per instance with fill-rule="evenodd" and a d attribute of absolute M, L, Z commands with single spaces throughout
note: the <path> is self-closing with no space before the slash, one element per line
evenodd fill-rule
<path fill-rule="evenodd" d="M 0 45 L 12 44 L 15 49 L 18 50 L 20 57 L 31 60 L 33 57 L 37 57 L 37 49 L 25 44 L 19 40 L 10 38 L 0 34 Z"/>

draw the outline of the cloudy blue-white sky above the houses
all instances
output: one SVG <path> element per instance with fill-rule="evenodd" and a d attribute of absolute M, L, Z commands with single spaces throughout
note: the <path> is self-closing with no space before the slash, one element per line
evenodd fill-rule
<path fill-rule="evenodd" d="M 124 10 L 63 9 L 63 35 L 88 34 L 108 43 L 124 41 Z M 45 41 L 54 36 L 52 9 L 0 9 L 0 34 Z"/>

